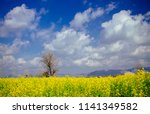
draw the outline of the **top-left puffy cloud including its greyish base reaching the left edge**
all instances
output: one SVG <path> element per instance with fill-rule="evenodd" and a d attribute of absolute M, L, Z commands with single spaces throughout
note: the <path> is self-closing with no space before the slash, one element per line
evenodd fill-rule
<path fill-rule="evenodd" d="M 34 9 L 28 9 L 25 4 L 10 10 L 0 22 L 0 36 L 10 37 L 21 35 L 25 30 L 33 30 L 38 25 L 39 16 Z"/>

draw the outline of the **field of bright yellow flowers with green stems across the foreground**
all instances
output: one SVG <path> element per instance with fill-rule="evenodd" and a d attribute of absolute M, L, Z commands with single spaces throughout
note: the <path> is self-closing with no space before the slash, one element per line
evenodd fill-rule
<path fill-rule="evenodd" d="M 0 78 L 0 96 L 150 97 L 150 73 L 103 78 Z"/>

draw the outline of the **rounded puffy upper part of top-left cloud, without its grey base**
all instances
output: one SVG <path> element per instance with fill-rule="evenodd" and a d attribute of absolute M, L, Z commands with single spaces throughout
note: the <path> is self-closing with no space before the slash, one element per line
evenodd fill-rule
<path fill-rule="evenodd" d="M 36 11 L 34 9 L 28 9 L 25 4 L 13 8 L 7 13 L 4 20 L 4 25 L 16 28 L 31 28 L 36 20 Z M 34 27 L 33 27 L 34 28 Z"/>

